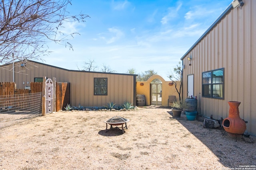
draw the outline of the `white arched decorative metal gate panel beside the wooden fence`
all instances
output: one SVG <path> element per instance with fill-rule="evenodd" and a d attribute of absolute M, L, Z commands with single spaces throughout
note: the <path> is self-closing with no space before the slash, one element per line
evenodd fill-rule
<path fill-rule="evenodd" d="M 46 114 L 53 111 L 53 82 L 52 79 L 46 80 Z"/>

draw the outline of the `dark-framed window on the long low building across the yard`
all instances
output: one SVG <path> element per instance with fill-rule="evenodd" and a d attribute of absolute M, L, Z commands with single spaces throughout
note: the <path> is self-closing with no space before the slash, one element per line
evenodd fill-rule
<path fill-rule="evenodd" d="M 94 95 L 108 95 L 108 78 L 94 78 Z"/>

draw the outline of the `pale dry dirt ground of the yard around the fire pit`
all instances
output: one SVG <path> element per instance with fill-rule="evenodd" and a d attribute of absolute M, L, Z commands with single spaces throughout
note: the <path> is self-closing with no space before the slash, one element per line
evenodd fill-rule
<path fill-rule="evenodd" d="M 130 119 L 124 134 L 105 131 L 116 115 Z M 167 107 L 51 113 L 0 129 L 0 170 L 256 169 L 256 137 L 202 124 Z"/>

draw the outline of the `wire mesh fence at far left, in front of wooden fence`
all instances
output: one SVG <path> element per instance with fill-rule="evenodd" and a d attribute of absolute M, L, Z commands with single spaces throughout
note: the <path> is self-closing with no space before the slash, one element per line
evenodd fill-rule
<path fill-rule="evenodd" d="M 0 129 L 42 115 L 42 92 L 0 96 Z"/>

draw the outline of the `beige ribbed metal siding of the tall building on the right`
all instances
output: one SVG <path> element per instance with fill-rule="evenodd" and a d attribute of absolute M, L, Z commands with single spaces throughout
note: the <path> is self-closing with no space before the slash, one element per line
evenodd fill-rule
<path fill-rule="evenodd" d="M 228 116 L 228 101 L 239 101 L 247 131 L 256 134 L 256 0 L 232 9 L 183 59 L 183 98 L 187 76 L 194 74 L 198 111 L 215 119 Z M 192 56 L 191 66 L 188 56 Z M 224 100 L 202 97 L 202 72 L 224 68 Z"/>

